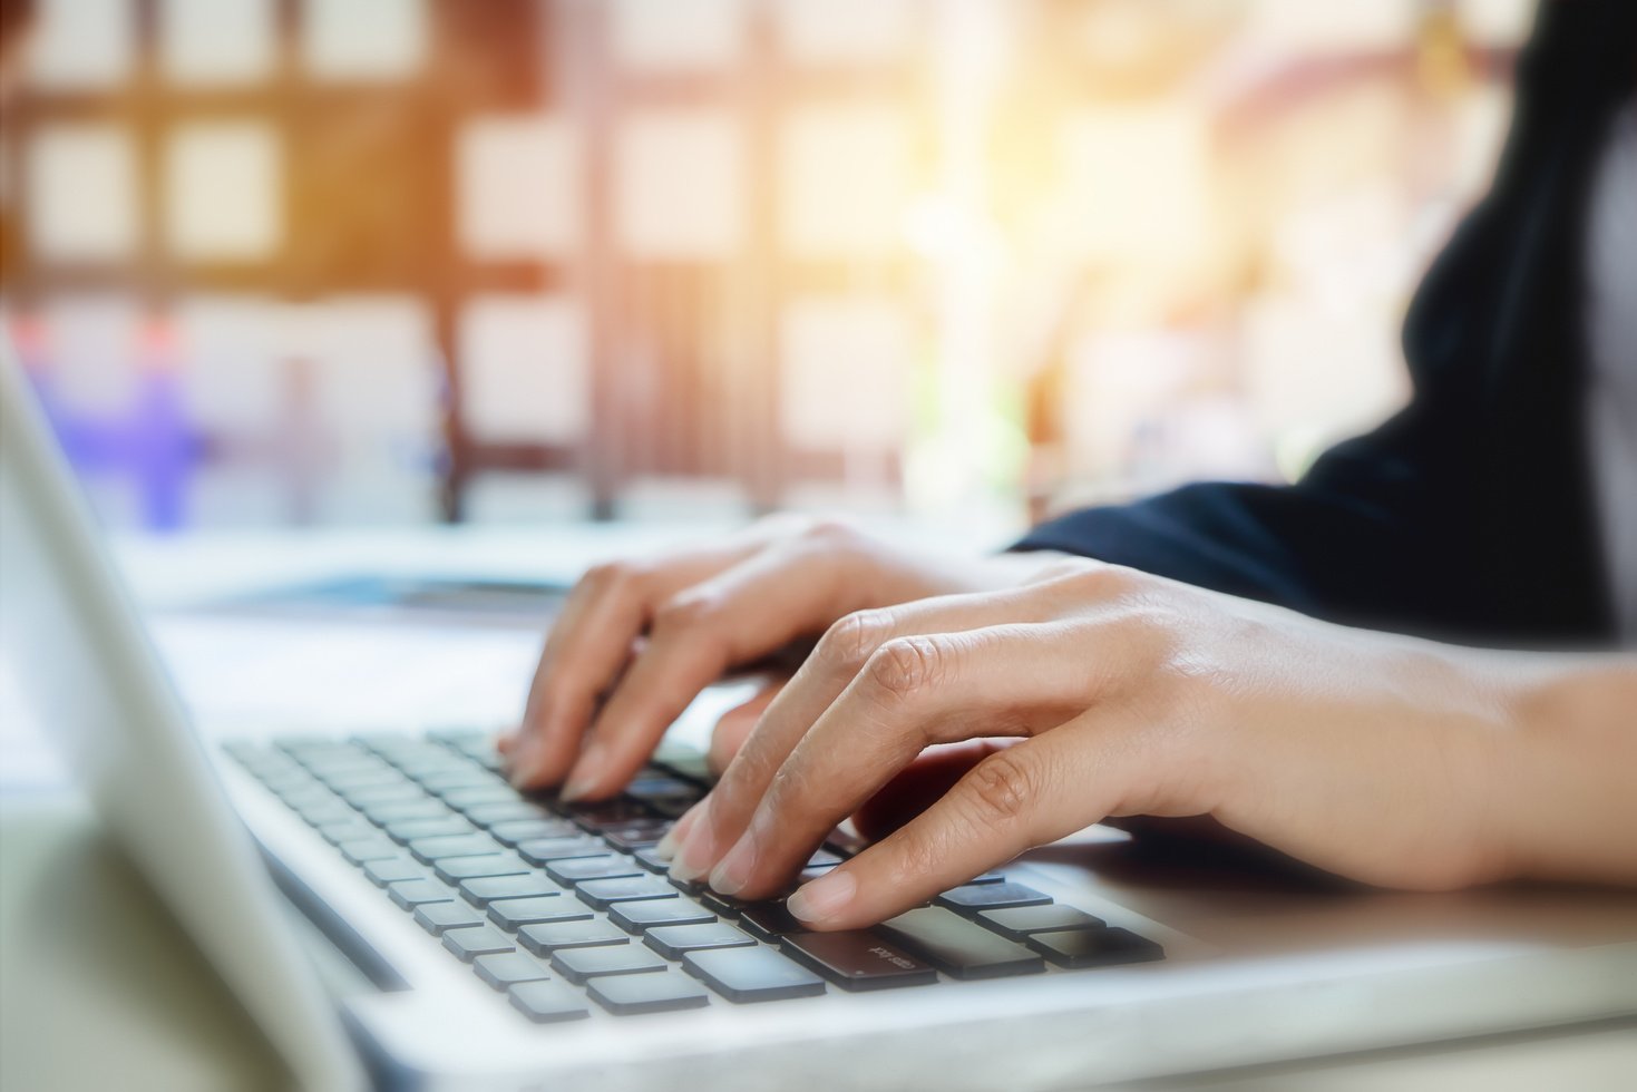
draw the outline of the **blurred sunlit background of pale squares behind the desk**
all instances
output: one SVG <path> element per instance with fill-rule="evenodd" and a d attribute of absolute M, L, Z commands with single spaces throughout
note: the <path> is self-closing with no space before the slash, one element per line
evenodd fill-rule
<path fill-rule="evenodd" d="M 1288 480 L 1531 0 L 41 0 L 0 308 L 124 529 Z"/>

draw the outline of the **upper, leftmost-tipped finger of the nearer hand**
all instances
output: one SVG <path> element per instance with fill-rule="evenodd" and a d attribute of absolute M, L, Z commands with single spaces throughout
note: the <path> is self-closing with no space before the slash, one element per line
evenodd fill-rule
<path fill-rule="evenodd" d="M 696 879 L 717 864 L 745 832 L 789 753 L 882 645 L 913 634 L 953 634 L 1007 620 L 1048 619 L 1054 609 L 1049 594 L 1023 588 L 936 596 L 863 611 L 832 625 L 712 789 L 717 797 L 712 820 L 694 827 L 673 863 L 673 874 Z"/>

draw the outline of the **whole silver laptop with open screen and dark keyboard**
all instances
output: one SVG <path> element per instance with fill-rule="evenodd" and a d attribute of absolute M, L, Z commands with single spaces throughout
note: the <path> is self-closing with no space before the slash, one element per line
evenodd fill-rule
<path fill-rule="evenodd" d="M 1364 891 L 1094 830 L 818 935 L 666 879 L 696 756 L 566 807 L 458 725 L 219 743 L 10 355 L 0 395 L 18 676 L 301 1087 L 1087 1087 L 1637 1013 L 1637 892 Z"/>

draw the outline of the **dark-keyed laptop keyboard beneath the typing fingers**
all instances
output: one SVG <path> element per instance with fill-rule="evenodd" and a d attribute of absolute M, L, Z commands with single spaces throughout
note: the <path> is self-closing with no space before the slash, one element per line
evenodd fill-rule
<path fill-rule="evenodd" d="M 481 732 L 231 743 L 228 753 L 452 958 L 539 1023 L 1162 959 L 1000 873 L 871 930 L 807 932 L 782 900 L 666 876 L 653 845 L 706 792 L 647 766 L 588 805 L 519 792 Z M 850 853 L 825 845 L 804 879 Z"/>

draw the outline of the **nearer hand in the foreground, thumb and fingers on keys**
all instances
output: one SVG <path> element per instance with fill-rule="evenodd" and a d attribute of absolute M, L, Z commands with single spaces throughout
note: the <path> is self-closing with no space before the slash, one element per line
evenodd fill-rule
<path fill-rule="evenodd" d="M 833 625 L 678 825 L 673 873 L 778 894 L 925 748 L 989 740 L 791 912 L 869 925 L 1110 815 L 1210 815 L 1373 884 L 1480 882 L 1516 866 L 1522 663 L 1061 562 Z"/>

